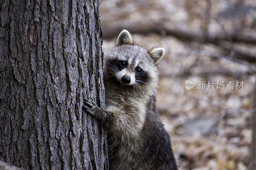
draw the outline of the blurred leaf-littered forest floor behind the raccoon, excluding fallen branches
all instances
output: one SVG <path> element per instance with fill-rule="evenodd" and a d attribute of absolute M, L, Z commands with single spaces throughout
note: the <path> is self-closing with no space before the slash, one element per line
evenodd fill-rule
<path fill-rule="evenodd" d="M 103 34 L 105 27 L 119 21 L 125 23 L 145 18 L 157 20 L 163 17 L 171 23 L 185 23 L 191 30 L 203 29 L 204 13 L 202 9 L 197 9 L 196 5 L 205 8 L 207 6 L 203 1 L 197 2 L 199 4 L 192 3 L 189 6 L 185 0 L 102 0 L 100 20 Z M 212 2 L 214 3 L 211 4 L 211 15 L 218 17 L 220 23 L 225 23 L 224 29 L 227 32 L 231 32 L 241 23 L 250 27 L 254 22 L 253 18 L 250 18 L 251 13 L 242 17 L 240 13 L 236 14 L 236 10 L 231 10 L 234 14 L 230 16 L 230 4 Z M 236 3 L 235 0 L 230 2 Z M 253 0 L 244 1 L 244 8 L 250 5 L 256 6 Z M 209 32 L 221 33 L 223 27 L 220 23 L 211 17 Z M 248 32 L 253 31 L 255 29 Z M 103 51 L 113 45 L 116 36 L 103 40 Z M 251 116 L 255 74 L 243 64 L 200 53 L 221 52 L 223 48 L 216 44 L 180 40 L 177 36 L 164 33 L 137 33 L 132 36 L 136 43 L 145 48 L 165 48 L 165 55 L 157 66 L 160 72 L 157 108 L 171 136 L 179 169 L 246 169 L 251 159 Z M 255 44 L 236 42 L 232 45 L 237 50 L 256 56 Z M 196 53 L 189 49 L 196 49 Z M 255 66 L 253 63 L 250 64 Z M 186 90 L 187 80 L 194 83 L 194 88 Z M 224 87 L 220 87 L 220 82 Z M 202 86 L 203 84 L 205 86 Z M 239 86 L 241 84 L 243 86 Z"/>

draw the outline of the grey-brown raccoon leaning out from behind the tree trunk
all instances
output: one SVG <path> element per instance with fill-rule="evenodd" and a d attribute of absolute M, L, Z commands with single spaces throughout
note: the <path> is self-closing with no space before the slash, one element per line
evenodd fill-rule
<path fill-rule="evenodd" d="M 83 108 L 107 131 L 109 169 L 177 169 L 170 137 L 156 114 L 156 64 L 163 55 L 164 48 L 136 45 L 127 30 L 104 52 L 107 108 L 87 99 Z"/>

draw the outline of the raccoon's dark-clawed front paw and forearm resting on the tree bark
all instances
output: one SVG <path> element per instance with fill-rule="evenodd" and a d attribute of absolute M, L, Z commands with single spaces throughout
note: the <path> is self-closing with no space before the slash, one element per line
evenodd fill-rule
<path fill-rule="evenodd" d="M 103 122 L 111 123 L 112 121 L 112 114 L 98 107 L 93 101 L 84 99 L 83 108 L 87 113 Z"/>

